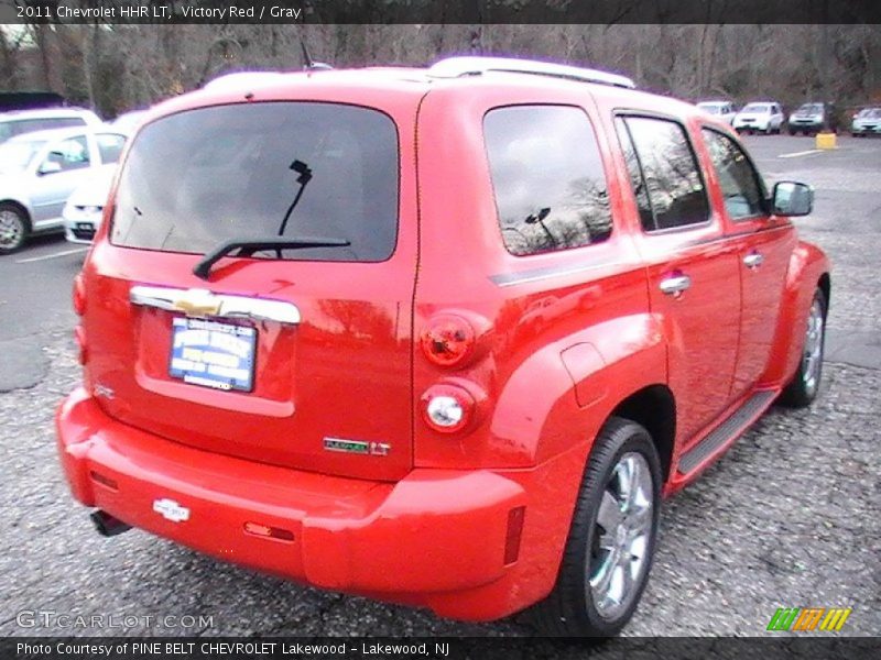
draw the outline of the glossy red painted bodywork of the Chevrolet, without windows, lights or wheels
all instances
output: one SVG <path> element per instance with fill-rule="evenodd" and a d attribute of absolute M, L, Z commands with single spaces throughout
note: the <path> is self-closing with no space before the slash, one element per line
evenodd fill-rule
<path fill-rule="evenodd" d="M 382 263 L 228 258 L 206 283 L 192 273 L 199 255 L 111 244 L 108 205 L 81 275 L 84 386 L 56 419 L 80 503 L 293 580 L 498 618 L 551 592 L 591 443 L 622 402 L 649 387 L 675 400 L 672 493 L 730 442 L 687 474 L 676 470 L 684 451 L 750 393 L 776 392 L 795 372 L 794 329 L 828 263 L 796 243 L 784 218 L 725 216 L 700 128 L 731 131 L 697 109 L 572 81 L 429 82 L 420 72 L 376 70 L 216 88 L 170 101 L 150 121 L 263 100 L 357 102 L 393 119 L 395 251 Z M 614 221 L 609 240 L 529 257 L 504 249 L 482 118 L 523 103 L 573 106 L 590 120 Z M 714 209 L 706 224 L 642 232 L 613 128 L 616 112 L 633 109 L 689 128 Z M 755 250 L 766 255 L 761 274 L 742 265 Z M 692 289 L 662 295 L 660 280 L 679 272 Z M 177 312 L 131 305 L 138 284 L 290 301 L 303 321 L 260 322 L 253 393 L 194 387 L 166 374 Z M 477 333 L 453 367 L 427 360 L 418 341 L 443 315 Z M 421 418 L 424 393 L 438 385 L 476 402 L 459 432 Z M 328 452 L 328 437 L 390 450 Z M 160 498 L 189 518 L 157 515 Z M 247 524 L 285 535 L 254 536 Z"/>

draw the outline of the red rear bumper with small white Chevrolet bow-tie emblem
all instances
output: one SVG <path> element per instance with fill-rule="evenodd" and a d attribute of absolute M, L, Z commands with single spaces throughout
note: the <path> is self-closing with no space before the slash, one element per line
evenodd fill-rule
<path fill-rule="evenodd" d="M 526 506 L 530 482 L 553 477 L 541 468 L 508 474 L 417 469 L 393 484 L 320 475 L 140 431 L 109 418 L 81 388 L 59 407 L 56 427 L 80 503 L 231 562 L 471 619 L 527 606 L 556 576 L 554 546 L 562 546 L 565 529 L 550 537 L 541 531 L 545 541 L 557 539 L 541 556 L 523 548 L 520 561 L 504 563 L 512 509 Z M 170 506 L 186 509 L 186 519 L 168 514 Z M 546 527 L 540 509 L 527 514 L 533 532 L 524 538 Z M 565 505 L 559 513 L 565 516 Z M 247 522 L 291 536 L 255 536 Z M 536 578 L 541 564 L 548 574 Z M 524 565 L 532 566 L 531 588 L 516 586 Z"/>

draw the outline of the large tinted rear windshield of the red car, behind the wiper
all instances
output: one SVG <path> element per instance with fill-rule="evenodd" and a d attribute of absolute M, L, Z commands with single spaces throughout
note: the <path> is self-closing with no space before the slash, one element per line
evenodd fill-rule
<path fill-rule="evenodd" d="M 111 241 L 204 254 L 232 239 L 320 237 L 351 244 L 268 254 L 384 261 L 398 234 L 398 162 L 395 124 L 377 110 L 262 102 L 180 112 L 134 139 Z"/>

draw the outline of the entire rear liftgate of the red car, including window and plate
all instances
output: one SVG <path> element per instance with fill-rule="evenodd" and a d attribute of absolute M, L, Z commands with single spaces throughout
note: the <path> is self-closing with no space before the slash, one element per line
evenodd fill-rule
<path fill-rule="evenodd" d="M 109 416 L 298 470 L 412 469 L 415 195 L 400 163 L 415 158 L 398 135 L 415 127 L 392 112 L 242 102 L 143 127 L 110 242 L 85 265 L 101 301 L 84 317 L 87 380 L 112 393 Z M 248 251 L 218 251 L 229 242 Z"/>

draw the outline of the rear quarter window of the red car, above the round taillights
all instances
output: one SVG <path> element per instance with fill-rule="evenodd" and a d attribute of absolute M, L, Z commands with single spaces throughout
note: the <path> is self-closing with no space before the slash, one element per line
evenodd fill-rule
<path fill-rule="evenodd" d="M 534 254 L 605 241 L 611 215 L 597 140 L 576 108 L 499 108 L 483 121 L 504 245 Z"/>

